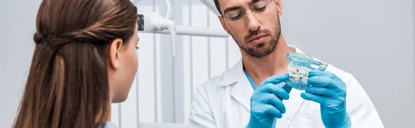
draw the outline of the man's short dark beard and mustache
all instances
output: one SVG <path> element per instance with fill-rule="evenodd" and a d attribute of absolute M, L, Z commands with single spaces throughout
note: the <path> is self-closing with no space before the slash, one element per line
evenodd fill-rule
<path fill-rule="evenodd" d="M 245 42 L 242 43 L 241 41 L 237 40 L 237 38 L 235 38 L 235 36 L 233 36 L 232 34 L 232 38 L 234 39 L 234 41 L 236 41 L 237 45 L 239 45 L 239 48 L 241 48 L 243 51 L 245 51 L 246 53 L 248 53 L 250 56 L 253 56 L 255 58 L 263 58 L 264 56 L 268 56 L 268 54 L 271 54 L 274 52 L 274 50 L 277 47 L 277 43 L 279 40 L 279 36 L 281 34 L 281 27 L 280 27 L 280 23 L 279 23 L 279 18 L 278 18 L 278 22 L 275 24 L 275 26 L 273 27 L 273 29 L 275 30 L 274 33 L 272 33 L 270 30 L 257 30 L 257 31 L 250 31 L 249 34 L 247 36 L 245 36 Z M 258 45 L 255 45 L 254 47 L 249 47 L 248 43 L 249 43 L 249 39 L 252 36 L 256 36 L 258 34 L 265 34 L 270 36 L 271 40 L 269 42 L 264 42 L 264 43 L 259 43 Z"/>

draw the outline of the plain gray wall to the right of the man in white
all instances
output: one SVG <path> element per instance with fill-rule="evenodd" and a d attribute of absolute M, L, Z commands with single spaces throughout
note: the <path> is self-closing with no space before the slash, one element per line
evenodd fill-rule
<path fill-rule="evenodd" d="M 289 0 L 288 43 L 353 74 L 385 127 L 415 127 L 410 0 Z"/>

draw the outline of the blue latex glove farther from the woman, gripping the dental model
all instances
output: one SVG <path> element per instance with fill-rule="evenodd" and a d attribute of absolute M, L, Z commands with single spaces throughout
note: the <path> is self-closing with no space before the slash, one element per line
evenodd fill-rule
<path fill-rule="evenodd" d="M 308 72 L 306 92 L 301 97 L 320 103 L 322 121 L 327 128 L 351 127 L 346 111 L 346 84 L 335 74 L 327 71 Z"/>

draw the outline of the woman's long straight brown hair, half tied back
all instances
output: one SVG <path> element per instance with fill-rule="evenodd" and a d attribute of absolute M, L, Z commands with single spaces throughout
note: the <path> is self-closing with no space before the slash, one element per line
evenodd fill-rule
<path fill-rule="evenodd" d="M 42 1 L 13 127 L 103 127 L 111 110 L 109 45 L 114 39 L 127 42 L 136 19 L 129 0 Z"/>

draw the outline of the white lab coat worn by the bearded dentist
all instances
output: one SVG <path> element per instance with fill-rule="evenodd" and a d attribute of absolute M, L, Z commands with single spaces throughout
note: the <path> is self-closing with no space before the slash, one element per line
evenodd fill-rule
<path fill-rule="evenodd" d="M 297 47 L 290 47 L 302 53 Z M 352 128 L 383 128 L 378 112 L 358 81 L 333 65 L 329 65 L 326 70 L 339 76 L 347 85 L 347 112 L 351 116 Z M 250 118 L 250 96 L 253 92 L 246 74 L 243 73 L 242 61 L 239 61 L 232 69 L 197 87 L 190 110 L 190 127 L 246 127 Z M 283 100 L 286 113 L 277 119 L 275 127 L 324 127 L 320 104 L 304 100 L 300 96 L 302 92 L 304 91 L 292 89 L 290 98 Z"/>

